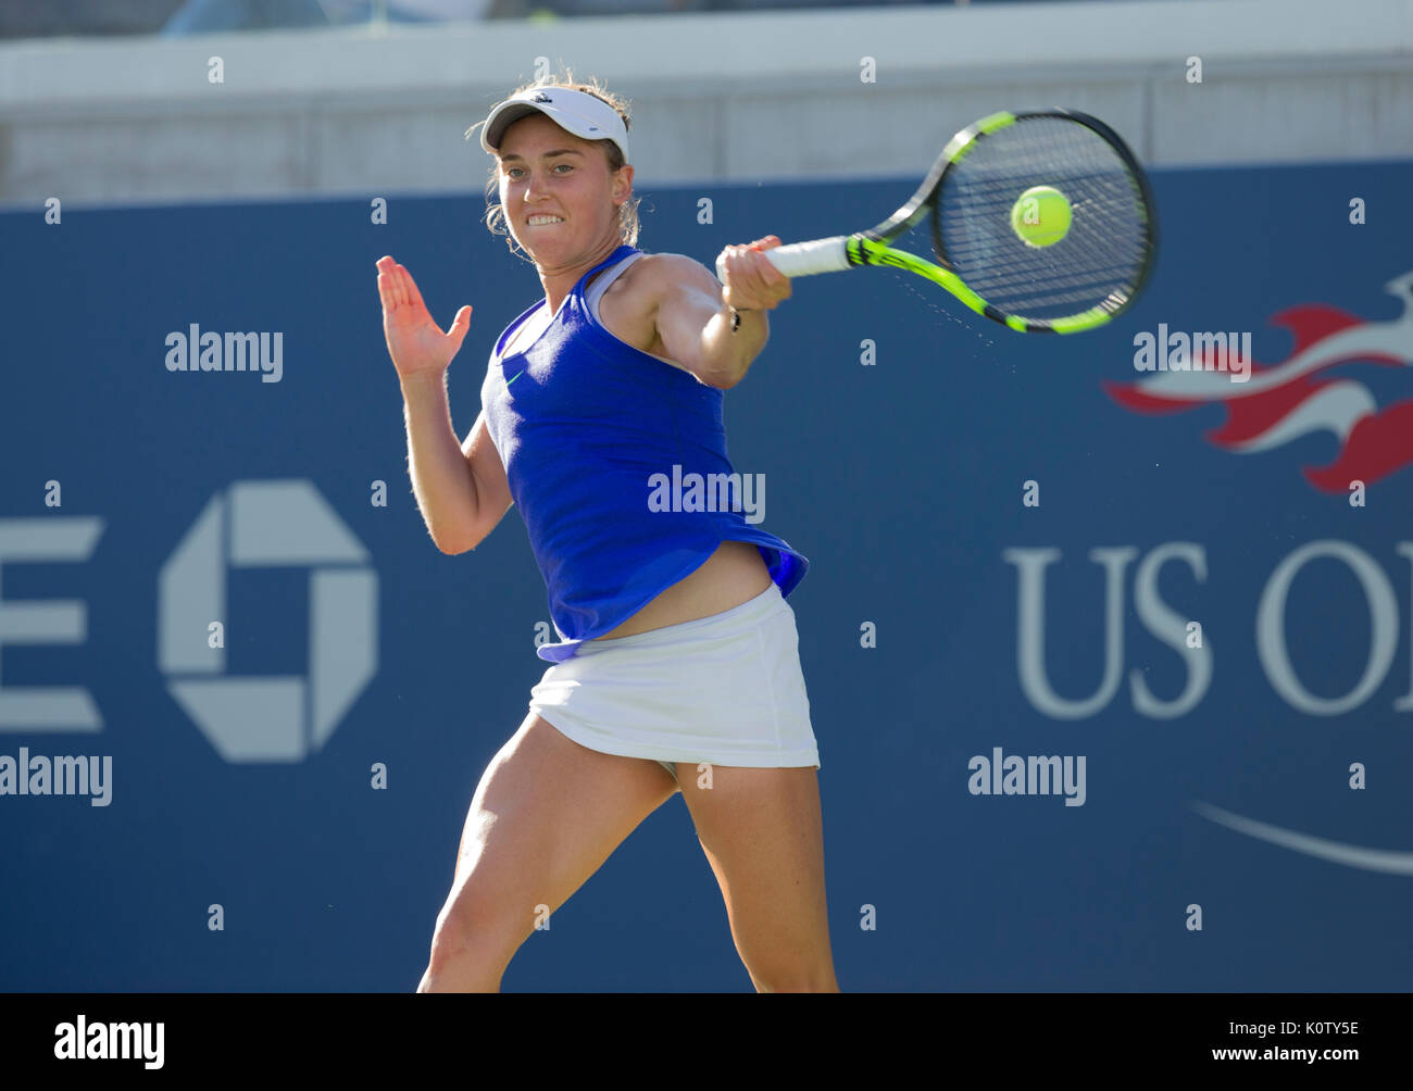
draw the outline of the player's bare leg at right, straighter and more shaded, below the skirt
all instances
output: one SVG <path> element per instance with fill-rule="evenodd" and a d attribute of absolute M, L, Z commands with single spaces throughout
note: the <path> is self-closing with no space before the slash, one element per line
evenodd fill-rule
<path fill-rule="evenodd" d="M 690 762 L 677 773 L 756 988 L 838 988 L 817 770 L 714 766 L 711 787 Z"/>

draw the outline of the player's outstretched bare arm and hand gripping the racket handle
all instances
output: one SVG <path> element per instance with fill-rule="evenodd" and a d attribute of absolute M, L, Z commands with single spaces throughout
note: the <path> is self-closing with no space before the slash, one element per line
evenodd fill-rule
<path fill-rule="evenodd" d="M 653 254 L 657 335 L 670 359 L 706 386 L 729 390 L 770 339 L 767 311 L 790 298 L 790 278 L 762 254 L 780 246 L 773 235 L 750 246 L 726 247 L 723 284 L 684 254 Z M 732 332 L 731 307 L 740 309 Z"/>

